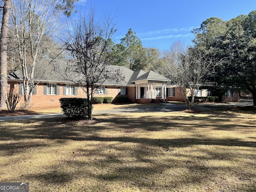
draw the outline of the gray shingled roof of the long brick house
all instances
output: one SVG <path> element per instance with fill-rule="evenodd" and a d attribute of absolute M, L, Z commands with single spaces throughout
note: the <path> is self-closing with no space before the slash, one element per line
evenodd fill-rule
<path fill-rule="evenodd" d="M 62 71 L 62 73 L 66 73 L 67 60 L 63 59 L 55 59 L 52 61 L 50 58 L 43 58 L 38 61 L 34 73 L 34 77 L 36 80 L 41 80 L 42 82 L 67 82 L 66 78 L 58 72 Z M 168 80 L 167 78 L 161 76 L 160 74 L 150 70 L 149 72 L 145 72 L 143 70 L 132 71 L 125 66 L 109 66 L 113 68 L 113 70 L 120 70 L 122 76 L 124 76 L 124 80 L 120 82 L 115 82 L 113 80 L 106 80 L 104 84 L 116 84 L 116 85 L 131 85 L 134 84 L 136 80 Z M 48 71 L 44 73 L 44 71 Z M 12 80 L 21 80 L 22 79 L 22 70 L 17 70 L 8 75 L 8 79 Z M 77 76 L 74 76 L 73 81 L 78 80 Z"/>

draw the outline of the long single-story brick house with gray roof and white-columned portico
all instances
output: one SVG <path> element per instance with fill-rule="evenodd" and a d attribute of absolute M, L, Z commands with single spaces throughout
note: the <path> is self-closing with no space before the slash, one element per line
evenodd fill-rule
<path fill-rule="evenodd" d="M 38 62 L 38 68 L 35 69 L 37 72 L 36 77 L 40 76 L 40 70 L 45 68 L 44 63 L 49 63 L 49 61 L 49 58 L 44 58 Z M 63 60 L 56 60 L 55 64 L 58 64 L 58 62 L 63 64 Z M 170 80 L 152 70 L 145 72 L 143 70 L 132 71 L 124 66 L 113 67 L 120 69 L 124 80 L 114 84 L 105 81 L 103 84 L 96 85 L 99 87 L 94 94 L 95 97 L 112 97 L 113 102 L 115 102 L 118 96 L 127 96 L 129 102 L 133 103 L 154 102 L 156 99 L 184 101 L 182 94 L 175 85 L 172 85 Z M 37 78 L 35 80 L 36 83 L 39 82 Z M 10 86 L 10 92 L 14 91 L 23 94 L 22 71 L 17 70 L 9 74 L 8 84 Z M 205 91 L 202 91 L 202 94 Z M 47 75 L 40 76 L 40 82 L 34 89 L 32 95 L 31 106 L 60 106 L 59 99 L 63 97 L 85 98 L 86 94 L 81 87 L 77 87 L 76 84 L 63 80 L 60 74 L 52 70 Z M 17 107 L 24 105 L 22 101 L 23 99 Z"/>

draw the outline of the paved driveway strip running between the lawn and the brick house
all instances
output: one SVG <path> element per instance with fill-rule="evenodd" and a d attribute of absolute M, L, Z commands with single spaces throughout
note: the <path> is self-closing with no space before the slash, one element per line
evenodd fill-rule
<path fill-rule="evenodd" d="M 217 110 L 228 109 L 236 106 L 252 106 L 252 100 L 241 100 L 240 102 L 228 102 L 228 103 L 210 103 L 210 104 L 193 104 L 192 108 L 197 110 Z M 118 108 L 112 110 L 92 111 L 92 114 L 108 114 L 108 113 L 131 113 L 131 112 L 170 112 L 170 111 L 182 111 L 186 109 L 186 104 L 172 104 L 166 103 L 159 106 L 144 106 L 144 107 L 132 107 L 132 108 Z M 39 115 L 22 115 L 22 116 L 4 116 L 0 117 L 1 121 L 12 120 L 26 120 L 26 119 L 42 119 L 52 117 L 65 117 L 63 113 L 54 114 L 39 114 Z"/>

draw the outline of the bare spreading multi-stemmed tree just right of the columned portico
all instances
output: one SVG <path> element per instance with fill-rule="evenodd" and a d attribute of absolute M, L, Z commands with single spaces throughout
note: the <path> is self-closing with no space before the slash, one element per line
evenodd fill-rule
<path fill-rule="evenodd" d="M 204 82 L 206 76 L 214 74 L 217 62 L 208 58 L 203 50 L 184 49 L 180 42 L 175 42 L 169 51 L 164 53 L 164 65 L 159 71 L 168 77 L 178 87 L 187 109 L 191 109 L 198 87 L 210 85 Z"/>

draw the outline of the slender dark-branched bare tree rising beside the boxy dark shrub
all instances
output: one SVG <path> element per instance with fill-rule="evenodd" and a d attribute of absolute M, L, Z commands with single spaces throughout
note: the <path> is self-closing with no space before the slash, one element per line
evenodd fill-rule
<path fill-rule="evenodd" d="M 65 74 L 69 81 L 75 82 L 86 93 L 89 120 L 92 119 L 92 97 L 96 89 L 106 80 L 122 80 L 120 70 L 110 66 L 112 58 L 109 44 L 115 32 L 110 15 L 105 16 L 102 22 L 97 22 L 91 8 L 88 16 L 80 15 L 79 20 L 73 22 L 66 42 L 66 50 L 73 60 L 69 62 Z"/>

